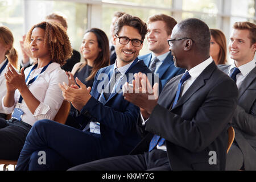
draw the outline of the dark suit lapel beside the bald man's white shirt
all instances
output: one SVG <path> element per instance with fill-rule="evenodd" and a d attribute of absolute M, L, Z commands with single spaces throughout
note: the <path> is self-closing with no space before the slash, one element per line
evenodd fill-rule
<path fill-rule="evenodd" d="M 207 68 L 196 78 L 193 84 L 188 88 L 187 92 L 177 101 L 176 107 L 183 105 L 197 90 L 205 85 L 205 80 L 209 79 L 212 75 L 212 72 L 217 68 L 214 62 L 210 63 Z M 176 94 L 176 93 L 175 93 Z"/>

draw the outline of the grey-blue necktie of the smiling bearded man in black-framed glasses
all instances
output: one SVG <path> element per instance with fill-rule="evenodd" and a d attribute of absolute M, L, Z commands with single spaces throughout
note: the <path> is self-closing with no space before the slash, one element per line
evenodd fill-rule
<path fill-rule="evenodd" d="M 98 101 L 100 101 L 102 104 L 105 104 L 105 102 L 108 101 L 110 95 L 113 92 L 112 90 L 114 88 L 115 81 L 118 81 L 119 77 L 121 77 L 121 76 L 122 76 L 122 74 L 119 71 L 115 71 L 113 73 L 112 77 L 110 78 L 110 81 L 109 81 L 108 85 L 104 89 L 104 91 L 103 91 L 103 93 L 102 93 L 102 95 L 101 95 L 101 97 L 99 98 Z"/>

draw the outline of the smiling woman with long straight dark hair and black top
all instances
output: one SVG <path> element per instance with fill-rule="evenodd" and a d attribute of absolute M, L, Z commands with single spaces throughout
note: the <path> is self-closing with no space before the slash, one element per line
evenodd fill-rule
<path fill-rule="evenodd" d="M 72 72 L 66 72 L 69 77 L 69 86 L 75 85 L 75 78 L 79 78 L 87 87 L 92 87 L 94 76 L 100 68 L 109 65 L 109 40 L 104 31 L 91 28 L 86 31 L 80 47 L 84 63 L 77 63 Z M 73 118 L 75 108 L 72 106 L 66 125 L 80 128 L 81 125 Z"/>

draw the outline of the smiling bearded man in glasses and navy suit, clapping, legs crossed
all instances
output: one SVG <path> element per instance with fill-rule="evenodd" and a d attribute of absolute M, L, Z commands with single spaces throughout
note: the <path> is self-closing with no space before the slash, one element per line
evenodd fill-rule
<path fill-rule="evenodd" d="M 78 78 L 80 88 L 60 84 L 65 100 L 71 101 L 84 118 L 84 130 L 47 119 L 36 122 L 20 152 L 17 170 L 62 170 L 129 154 L 141 139 L 136 133 L 139 107 L 126 101 L 121 89 L 122 83 L 133 80 L 134 73 L 154 75 L 137 58 L 146 33 L 147 24 L 141 19 L 131 15 L 118 19 L 114 38 L 117 61 L 97 72 L 92 91 Z M 38 163 L 39 151 L 46 154 L 45 164 Z"/>

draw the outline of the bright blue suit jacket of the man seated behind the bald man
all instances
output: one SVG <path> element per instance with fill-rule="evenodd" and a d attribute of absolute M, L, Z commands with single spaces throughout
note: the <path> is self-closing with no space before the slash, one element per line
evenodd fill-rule
<path fill-rule="evenodd" d="M 143 60 L 144 63 L 149 67 L 150 61 L 152 59 L 152 53 L 148 53 L 147 55 L 139 56 L 139 59 Z M 159 69 L 156 70 L 159 78 L 162 82 L 162 87 L 166 85 L 167 81 L 172 77 L 180 75 L 185 72 L 185 69 L 177 68 L 174 65 L 174 58 L 172 57 L 172 53 L 168 53 L 166 59 L 163 60 L 163 63 L 160 65 Z"/>

